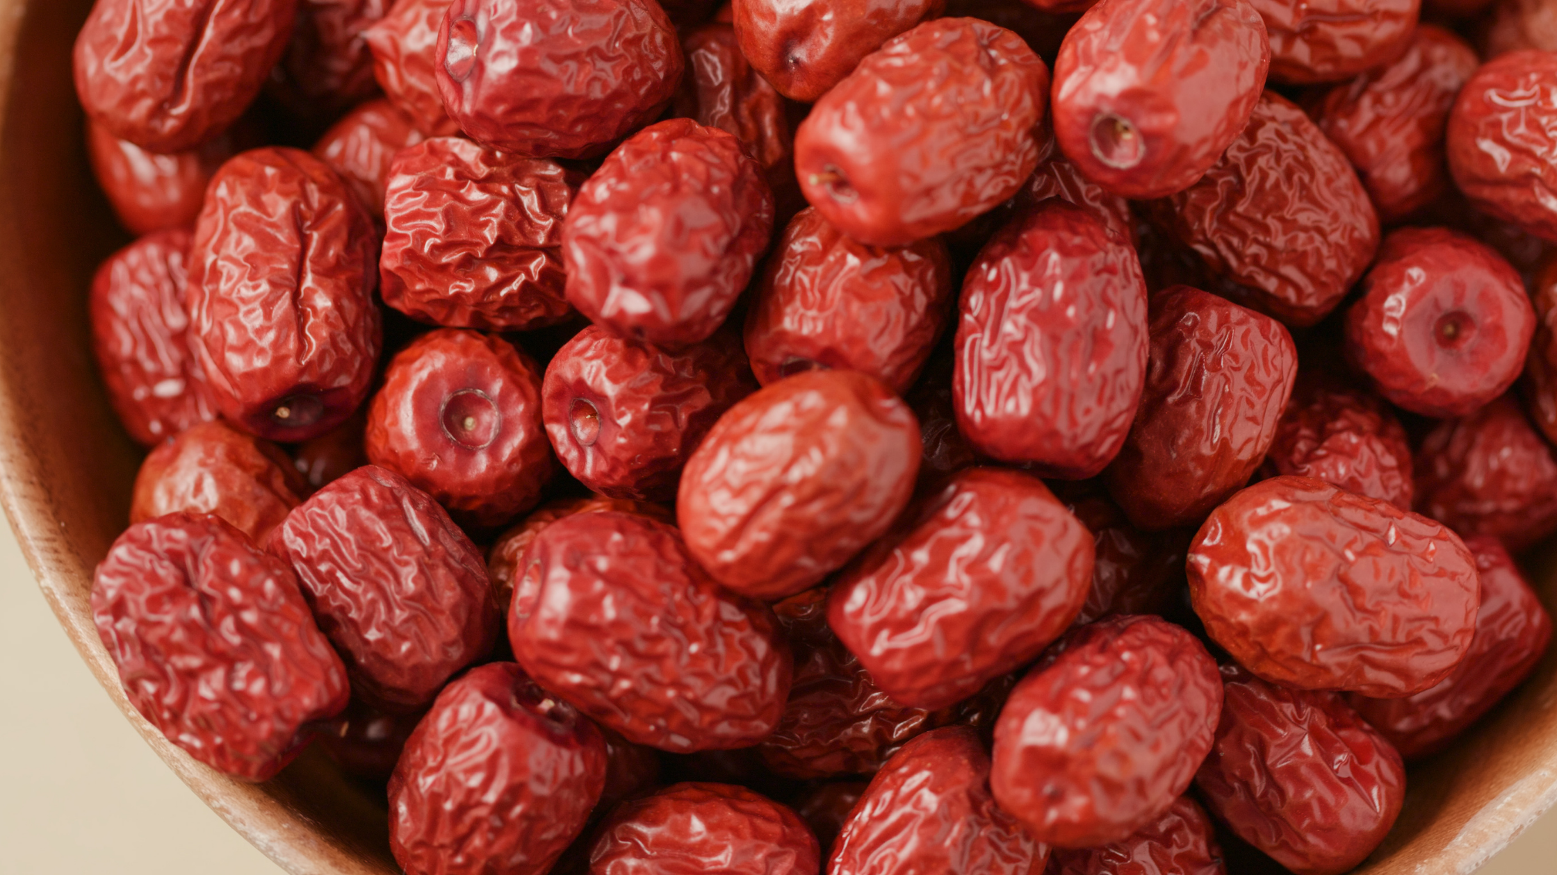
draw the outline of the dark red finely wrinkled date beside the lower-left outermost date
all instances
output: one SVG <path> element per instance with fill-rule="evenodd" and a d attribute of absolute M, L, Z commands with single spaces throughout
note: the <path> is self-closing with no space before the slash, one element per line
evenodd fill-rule
<path fill-rule="evenodd" d="M 352 690 L 374 707 L 425 708 L 497 640 L 481 553 L 425 492 L 385 469 L 366 466 L 315 492 L 269 550 L 297 573 Z"/>

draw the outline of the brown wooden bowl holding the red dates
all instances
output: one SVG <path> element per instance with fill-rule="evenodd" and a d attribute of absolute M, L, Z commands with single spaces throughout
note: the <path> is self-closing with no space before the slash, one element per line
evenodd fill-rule
<path fill-rule="evenodd" d="M 212 810 L 288 872 L 399 872 L 381 794 L 318 750 L 263 785 L 196 763 L 129 705 L 92 624 L 92 568 L 128 525 L 140 450 L 109 409 L 87 341 L 92 271 L 128 241 L 87 168 L 72 87 L 89 8 L 0 0 L 0 503 L 81 659 Z M 1526 559 L 1557 609 L 1557 550 Z M 1404 813 L 1359 872 L 1464 875 L 1507 845 L 1557 800 L 1554 704 L 1557 648 L 1451 752 L 1412 768 Z"/>

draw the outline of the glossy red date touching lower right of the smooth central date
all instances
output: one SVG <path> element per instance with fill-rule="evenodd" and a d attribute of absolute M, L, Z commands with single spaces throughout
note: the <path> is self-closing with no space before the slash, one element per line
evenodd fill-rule
<path fill-rule="evenodd" d="M 841 576 L 827 620 L 894 701 L 939 708 L 1057 638 L 1091 567 L 1091 534 L 1043 481 L 968 469 Z"/>

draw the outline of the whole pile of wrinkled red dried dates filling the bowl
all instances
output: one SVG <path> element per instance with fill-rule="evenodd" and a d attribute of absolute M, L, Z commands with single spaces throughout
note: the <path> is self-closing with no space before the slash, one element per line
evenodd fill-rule
<path fill-rule="evenodd" d="M 411 875 L 1361 864 L 1551 638 L 1557 0 L 713 3 L 98 0 L 129 701 Z"/>

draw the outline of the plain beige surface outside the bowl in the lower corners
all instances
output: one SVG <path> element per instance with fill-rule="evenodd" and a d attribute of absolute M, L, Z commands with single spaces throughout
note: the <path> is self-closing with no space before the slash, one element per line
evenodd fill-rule
<path fill-rule="evenodd" d="M 0 525 L 0 873 L 277 875 L 114 710 Z M 1557 872 L 1548 814 L 1481 875 Z M 1236 872 L 1230 875 L 1238 875 Z"/>

